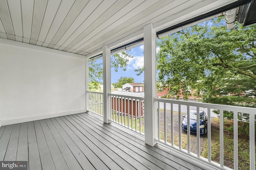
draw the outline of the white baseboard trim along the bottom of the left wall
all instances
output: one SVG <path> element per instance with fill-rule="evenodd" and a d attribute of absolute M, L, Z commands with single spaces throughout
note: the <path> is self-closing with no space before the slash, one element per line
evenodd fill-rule
<path fill-rule="evenodd" d="M 73 115 L 78 113 L 85 113 L 87 110 L 75 110 L 75 111 L 67 111 L 67 112 L 60 112 L 60 113 L 52 113 L 52 114 L 46 114 L 46 115 L 38 115 L 33 117 L 22 117 L 17 119 L 7 119 L 0 121 L 0 127 L 5 125 L 13 125 L 17 123 L 24 123 L 24 122 L 30 122 L 30 121 L 38 121 L 42 119 L 49 119 L 53 117 L 60 117 L 60 116 L 66 116 L 66 115 Z"/>

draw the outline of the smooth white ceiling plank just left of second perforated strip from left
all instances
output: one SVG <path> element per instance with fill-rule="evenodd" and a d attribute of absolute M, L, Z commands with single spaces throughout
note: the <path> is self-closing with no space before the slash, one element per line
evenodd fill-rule
<path fill-rule="evenodd" d="M 31 38 L 34 0 L 21 0 L 23 37 Z"/>

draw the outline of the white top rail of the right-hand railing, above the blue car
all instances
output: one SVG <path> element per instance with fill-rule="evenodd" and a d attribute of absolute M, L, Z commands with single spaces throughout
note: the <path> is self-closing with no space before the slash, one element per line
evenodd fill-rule
<path fill-rule="evenodd" d="M 212 103 L 198 103 L 198 102 L 190 102 L 190 101 L 179 101 L 179 100 L 172 100 L 172 99 L 162 99 L 162 98 L 157 98 L 157 97 L 154 97 L 154 101 L 186 105 L 186 106 L 210 108 L 210 109 L 216 109 L 216 110 L 221 109 L 224 111 L 233 111 L 233 112 L 237 111 L 238 113 L 248 113 L 248 114 L 256 115 L 256 108 L 251 108 L 251 107 L 219 105 L 219 104 L 212 104 Z"/>

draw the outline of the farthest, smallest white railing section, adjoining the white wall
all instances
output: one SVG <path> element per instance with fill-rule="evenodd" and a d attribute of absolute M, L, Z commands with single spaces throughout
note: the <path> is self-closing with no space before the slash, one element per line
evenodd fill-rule
<path fill-rule="evenodd" d="M 96 91 L 87 91 L 88 108 L 87 110 L 103 117 L 103 93 Z"/>

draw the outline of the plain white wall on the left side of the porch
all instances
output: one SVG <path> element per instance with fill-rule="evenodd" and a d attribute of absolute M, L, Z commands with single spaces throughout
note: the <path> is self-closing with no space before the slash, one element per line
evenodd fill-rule
<path fill-rule="evenodd" d="M 79 56 L 0 38 L 0 125 L 86 111 Z"/>

